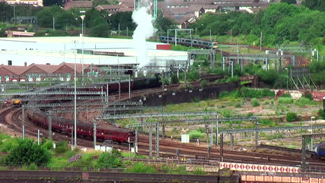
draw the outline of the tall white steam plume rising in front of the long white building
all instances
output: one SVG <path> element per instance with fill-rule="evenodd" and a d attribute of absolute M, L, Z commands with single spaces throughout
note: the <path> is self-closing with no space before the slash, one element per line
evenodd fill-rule
<path fill-rule="evenodd" d="M 140 1 L 140 0 L 139 0 Z M 147 58 L 147 42 L 146 39 L 155 35 L 156 29 L 153 28 L 153 18 L 150 12 L 149 0 L 141 1 L 141 8 L 134 11 L 132 19 L 137 24 L 133 33 L 133 44 L 137 51 L 139 67 L 148 65 L 150 60 Z"/>

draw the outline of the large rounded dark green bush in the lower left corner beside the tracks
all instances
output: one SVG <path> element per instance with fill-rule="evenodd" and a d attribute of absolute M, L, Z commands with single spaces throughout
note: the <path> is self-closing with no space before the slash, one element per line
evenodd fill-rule
<path fill-rule="evenodd" d="M 44 164 L 49 162 L 51 154 L 32 139 L 17 139 L 17 146 L 6 157 L 7 164 Z"/>

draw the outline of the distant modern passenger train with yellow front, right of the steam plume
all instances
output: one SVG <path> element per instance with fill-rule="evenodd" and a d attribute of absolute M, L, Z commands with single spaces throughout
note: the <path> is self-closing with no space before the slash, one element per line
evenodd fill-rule
<path fill-rule="evenodd" d="M 166 42 L 166 43 L 175 42 L 175 37 L 160 36 L 159 39 L 160 42 Z M 217 49 L 218 48 L 217 44 L 219 44 L 218 42 L 209 42 L 206 40 L 194 40 L 194 39 L 178 38 L 178 37 L 176 37 L 176 42 L 184 46 L 193 46 L 202 49 Z"/>

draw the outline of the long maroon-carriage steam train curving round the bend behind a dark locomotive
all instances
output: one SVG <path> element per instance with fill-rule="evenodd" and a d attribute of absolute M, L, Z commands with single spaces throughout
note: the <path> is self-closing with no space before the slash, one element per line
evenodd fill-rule
<path fill-rule="evenodd" d="M 108 92 L 110 94 L 117 92 L 119 89 L 122 91 L 128 90 L 129 82 L 128 80 L 123 80 L 121 82 L 108 82 L 108 84 L 103 84 L 103 91 L 106 92 L 108 85 Z M 157 77 L 151 78 L 135 78 L 130 81 L 130 87 L 132 90 L 135 89 L 147 89 L 152 87 L 160 87 L 161 83 L 159 82 Z M 87 89 L 88 91 L 94 91 L 94 89 Z M 42 89 L 42 91 L 44 91 Z M 46 91 L 56 91 L 56 88 L 49 88 Z M 62 91 L 62 89 L 61 89 Z M 37 91 L 41 92 L 41 91 Z M 34 101 L 28 103 L 35 103 Z M 40 108 L 28 108 L 27 110 L 28 119 L 33 121 L 36 125 L 41 126 L 42 128 L 48 128 L 49 123 L 47 121 L 47 114 L 44 110 Z M 51 129 L 54 132 L 59 132 L 67 135 L 71 135 L 74 132 L 74 121 L 65 119 L 62 117 L 55 117 L 51 120 Z M 97 128 L 97 141 L 116 141 L 118 143 L 133 143 L 135 139 L 135 133 L 133 130 L 126 128 Z M 81 137 L 84 139 L 93 139 L 94 128 L 93 125 L 88 123 L 83 123 L 78 121 L 76 128 L 77 137 Z"/>

